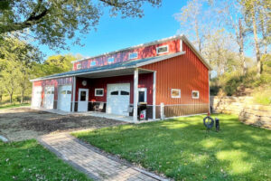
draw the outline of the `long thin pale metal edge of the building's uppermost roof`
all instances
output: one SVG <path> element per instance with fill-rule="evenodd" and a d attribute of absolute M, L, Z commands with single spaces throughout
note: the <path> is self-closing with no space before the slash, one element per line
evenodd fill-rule
<path fill-rule="evenodd" d="M 127 47 L 127 48 L 124 48 L 124 49 L 119 49 L 119 50 L 113 51 L 113 52 L 105 52 L 105 53 L 98 54 L 98 55 L 95 55 L 95 56 L 91 56 L 91 57 L 88 57 L 88 58 L 85 58 L 85 59 L 82 59 L 82 60 L 72 61 L 71 63 L 86 61 L 86 60 L 97 58 L 97 57 L 100 57 L 100 56 L 105 56 L 105 55 L 116 53 L 116 52 L 128 51 L 128 50 L 132 50 L 132 49 L 139 48 L 139 47 L 150 46 L 150 45 L 153 45 L 153 44 L 156 44 L 156 43 L 164 43 L 166 41 L 175 40 L 175 39 L 179 39 L 179 38 L 182 38 L 182 34 L 174 35 L 174 36 L 171 36 L 171 37 L 168 37 L 168 38 L 156 40 L 156 41 L 149 42 L 149 43 L 137 44 L 135 46 L 130 46 L 130 47 Z"/>

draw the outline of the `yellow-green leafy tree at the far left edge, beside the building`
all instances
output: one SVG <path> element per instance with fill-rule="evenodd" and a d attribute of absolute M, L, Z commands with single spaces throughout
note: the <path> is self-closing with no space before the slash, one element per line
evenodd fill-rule
<path fill-rule="evenodd" d="M 24 93 L 30 89 L 33 62 L 40 61 L 40 53 L 32 45 L 14 37 L 5 37 L 0 47 L 0 76 L 5 90 L 13 101 L 14 91 L 20 91 L 23 103 Z"/>

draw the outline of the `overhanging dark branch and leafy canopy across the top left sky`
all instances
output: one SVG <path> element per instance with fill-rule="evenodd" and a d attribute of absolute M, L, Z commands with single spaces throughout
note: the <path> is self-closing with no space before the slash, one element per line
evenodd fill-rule
<path fill-rule="evenodd" d="M 98 24 L 104 7 L 111 14 L 142 17 L 142 5 L 160 5 L 161 0 L 2 0 L 0 2 L 0 35 L 20 32 L 51 48 L 66 48 L 66 38 L 89 33 Z"/>

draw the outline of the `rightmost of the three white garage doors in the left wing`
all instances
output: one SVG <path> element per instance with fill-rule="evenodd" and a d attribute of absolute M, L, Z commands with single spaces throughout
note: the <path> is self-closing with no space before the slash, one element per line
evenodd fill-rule
<path fill-rule="evenodd" d="M 59 86 L 58 92 L 58 110 L 70 112 L 71 85 Z"/>

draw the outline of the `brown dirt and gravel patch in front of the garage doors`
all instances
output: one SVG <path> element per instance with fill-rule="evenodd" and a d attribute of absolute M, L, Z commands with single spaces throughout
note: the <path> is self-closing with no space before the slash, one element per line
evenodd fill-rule
<path fill-rule="evenodd" d="M 58 115 L 30 108 L 0 110 L 0 135 L 23 140 L 62 131 L 98 129 L 126 124 L 114 119 L 81 115 Z"/>

